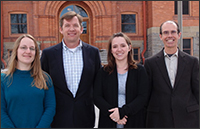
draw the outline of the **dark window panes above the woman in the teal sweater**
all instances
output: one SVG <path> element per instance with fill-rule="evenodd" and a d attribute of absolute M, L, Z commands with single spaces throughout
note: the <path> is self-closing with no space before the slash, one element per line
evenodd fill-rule
<path fill-rule="evenodd" d="M 27 33 L 27 15 L 10 14 L 11 34 Z"/>

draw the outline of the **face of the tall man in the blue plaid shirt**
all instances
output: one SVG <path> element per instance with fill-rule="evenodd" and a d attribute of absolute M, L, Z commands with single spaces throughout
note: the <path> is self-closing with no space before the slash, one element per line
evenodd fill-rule
<path fill-rule="evenodd" d="M 63 19 L 63 26 L 60 27 L 60 33 L 63 35 L 65 44 L 69 48 L 78 46 L 80 35 L 83 31 L 77 16 L 70 20 Z"/>

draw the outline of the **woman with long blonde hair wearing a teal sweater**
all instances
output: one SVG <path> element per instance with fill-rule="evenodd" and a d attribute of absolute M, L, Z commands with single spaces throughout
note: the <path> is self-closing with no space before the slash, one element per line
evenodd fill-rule
<path fill-rule="evenodd" d="M 41 69 L 37 42 L 21 35 L 1 73 L 1 128 L 49 128 L 55 107 L 53 83 Z"/>

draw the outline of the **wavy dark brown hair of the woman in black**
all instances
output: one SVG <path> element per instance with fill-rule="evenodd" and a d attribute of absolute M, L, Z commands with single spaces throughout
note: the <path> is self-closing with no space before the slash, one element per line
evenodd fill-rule
<path fill-rule="evenodd" d="M 112 41 L 113 41 L 113 39 L 115 37 L 123 37 L 126 40 L 126 43 L 128 45 L 131 45 L 130 38 L 127 35 L 125 35 L 124 33 L 122 33 L 122 32 L 114 33 L 110 37 L 110 39 L 108 41 L 108 55 L 107 55 L 107 62 L 108 62 L 108 64 L 105 65 L 105 67 L 104 67 L 104 69 L 107 72 L 109 72 L 109 74 L 111 74 L 114 71 L 115 67 L 116 67 L 115 58 L 114 58 L 113 54 L 111 53 Z M 133 50 L 132 49 L 128 52 L 128 69 L 137 69 L 136 62 L 133 59 Z"/>

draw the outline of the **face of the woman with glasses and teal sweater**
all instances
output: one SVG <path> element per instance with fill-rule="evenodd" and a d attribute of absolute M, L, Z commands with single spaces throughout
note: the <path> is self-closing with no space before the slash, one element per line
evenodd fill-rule
<path fill-rule="evenodd" d="M 25 37 L 21 40 L 17 49 L 17 67 L 18 68 L 30 68 L 31 63 L 35 59 L 35 43 L 32 39 Z"/>

